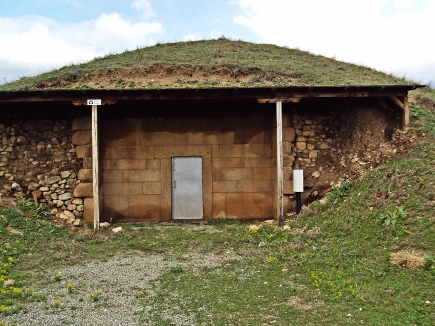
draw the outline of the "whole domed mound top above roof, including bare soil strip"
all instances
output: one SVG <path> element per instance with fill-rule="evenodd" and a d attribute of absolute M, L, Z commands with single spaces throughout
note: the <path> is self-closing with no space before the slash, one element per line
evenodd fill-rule
<path fill-rule="evenodd" d="M 225 38 L 166 43 L 23 77 L 0 90 L 395 85 L 372 68 L 271 44 Z"/>

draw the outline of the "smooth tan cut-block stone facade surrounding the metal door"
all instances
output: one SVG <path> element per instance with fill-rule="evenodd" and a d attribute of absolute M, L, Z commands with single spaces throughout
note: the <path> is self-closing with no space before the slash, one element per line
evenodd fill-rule
<path fill-rule="evenodd" d="M 116 220 L 171 219 L 171 157 L 203 157 L 204 218 L 270 218 L 272 117 L 144 118 L 100 122 L 102 215 Z M 74 195 L 88 197 L 92 220 L 90 117 L 76 119 L 83 158 Z"/>

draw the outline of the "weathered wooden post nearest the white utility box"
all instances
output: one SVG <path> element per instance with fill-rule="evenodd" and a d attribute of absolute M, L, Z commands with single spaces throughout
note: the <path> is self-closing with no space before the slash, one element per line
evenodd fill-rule
<path fill-rule="evenodd" d="M 282 102 L 276 102 L 276 182 L 277 182 L 277 218 L 278 226 L 284 221 L 284 198 L 283 184 L 284 176 L 282 172 Z"/>

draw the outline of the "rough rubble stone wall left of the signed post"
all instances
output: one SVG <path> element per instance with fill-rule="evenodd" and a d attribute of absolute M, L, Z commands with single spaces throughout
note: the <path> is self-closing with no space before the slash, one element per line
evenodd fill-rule
<path fill-rule="evenodd" d="M 0 196 L 31 196 L 51 213 L 82 224 L 83 200 L 73 191 L 79 161 L 70 121 L 11 121 L 0 124 Z"/>

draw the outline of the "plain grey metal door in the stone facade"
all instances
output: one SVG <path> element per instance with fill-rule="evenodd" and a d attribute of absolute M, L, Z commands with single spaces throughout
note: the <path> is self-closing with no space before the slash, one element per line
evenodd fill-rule
<path fill-rule="evenodd" d="M 202 157 L 172 157 L 172 219 L 202 218 Z"/>

